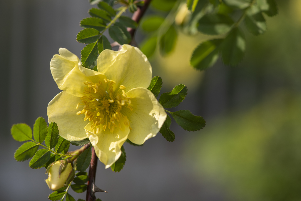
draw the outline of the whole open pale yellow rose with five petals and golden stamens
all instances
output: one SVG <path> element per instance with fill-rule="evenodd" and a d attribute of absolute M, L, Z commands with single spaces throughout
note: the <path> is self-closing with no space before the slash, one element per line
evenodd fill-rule
<path fill-rule="evenodd" d="M 63 90 L 47 107 L 48 122 L 56 122 L 69 141 L 89 138 L 96 155 L 109 168 L 129 139 L 135 144 L 155 137 L 166 112 L 147 90 L 151 64 L 136 47 L 104 50 L 97 71 L 82 67 L 79 58 L 60 48 L 50 62 L 51 74 Z"/>

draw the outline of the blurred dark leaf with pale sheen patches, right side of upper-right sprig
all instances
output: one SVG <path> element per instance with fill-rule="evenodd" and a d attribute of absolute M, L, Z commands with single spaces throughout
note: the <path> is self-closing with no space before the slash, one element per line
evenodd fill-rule
<path fill-rule="evenodd" d="M 267 30 L 265 18 L 256 5 L 248 8 L 247 15 L 245 17 L 245 24 L 247 29 L 255 36 L 263 34 Z"/>

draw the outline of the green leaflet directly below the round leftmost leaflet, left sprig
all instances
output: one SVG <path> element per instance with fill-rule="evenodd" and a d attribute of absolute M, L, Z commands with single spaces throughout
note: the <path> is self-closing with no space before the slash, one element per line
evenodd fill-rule
<path fill-rule="evenodd" d="M 29 158 L 33 157 L 37 150 L 39 149 L 39 145 L 34 142 L 26 142 L 22 144 L 15 152 L 14 158 L 17 161 L 26 161 Z"/>

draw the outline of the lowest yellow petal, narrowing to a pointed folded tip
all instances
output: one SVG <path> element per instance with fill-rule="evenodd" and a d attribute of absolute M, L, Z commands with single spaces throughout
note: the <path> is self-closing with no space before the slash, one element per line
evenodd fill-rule
<path fill-rule="evenodd" d="M 120 123 L 122 129 L 115 128 L 112 133 L 107 127 L 105 131 L 101 129 L 99 133 L 94 134 L 90 129 L 91 123 L 87 124 L 85 127 L 97 157 L 104 165 L 106 165 L 106 168 L 111 167 L 111 165 L 119 159 L 121 155 L 120 148 L 128 138 L 130 132 L 129 126 L 123 124 L 123 119 L 120 120 Z"/>

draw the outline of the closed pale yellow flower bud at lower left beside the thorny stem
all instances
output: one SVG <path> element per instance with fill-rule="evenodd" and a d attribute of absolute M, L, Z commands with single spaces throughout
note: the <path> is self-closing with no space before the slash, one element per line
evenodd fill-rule
<path fill-rule="evenodd" d="M 48 179 L 46 183 L 51 190 L 58 190 L 67 186 L 74 179 L 74 169 L 68 161 L 56 161 L 51 163 L 47 170 Z"/>

